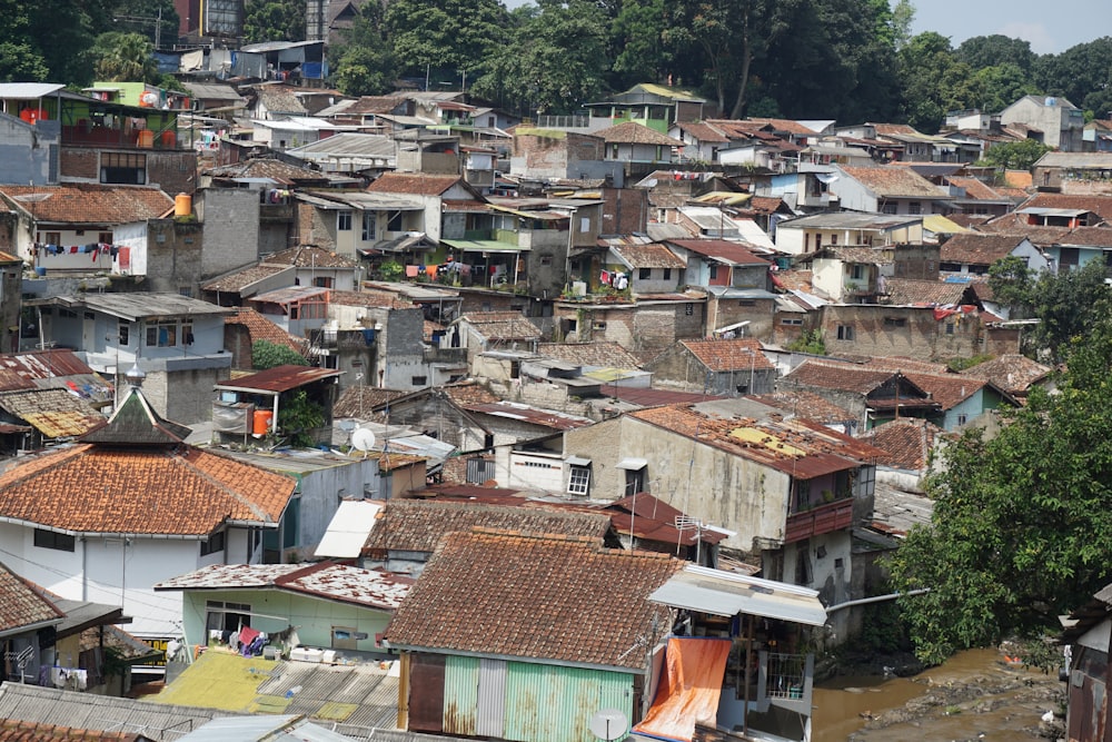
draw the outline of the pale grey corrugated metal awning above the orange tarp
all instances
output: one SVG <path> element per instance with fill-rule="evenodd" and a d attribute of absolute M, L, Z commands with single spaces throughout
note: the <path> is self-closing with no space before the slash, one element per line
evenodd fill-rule
<path fill-rule="evenodd" d="M 811 626 L 826 623 L 817 591 L 695 565 L 673 575 L 648 600 L 719 616 L 745 613 Z"/>

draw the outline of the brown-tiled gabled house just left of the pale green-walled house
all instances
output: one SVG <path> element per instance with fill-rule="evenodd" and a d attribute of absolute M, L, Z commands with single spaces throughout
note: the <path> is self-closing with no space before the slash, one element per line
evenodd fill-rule
<path fill-rule="evenodd" d="M 862 433 L 897 417 L 936 418 L 942 413 L 942 405 L 906 374 L 830 359 L 807 358 L 776 388 L 817 394 L 850 412 Z"/>

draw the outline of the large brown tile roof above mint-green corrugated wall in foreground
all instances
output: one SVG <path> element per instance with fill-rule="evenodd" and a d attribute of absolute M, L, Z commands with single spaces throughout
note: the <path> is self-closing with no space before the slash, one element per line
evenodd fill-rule
<path fill-rule="evenodd" d="M 454 533 L 386 629 L 391 644 L 642 669 L 668 610 L 648 596 L 683 563 L 596 540 Z"/>

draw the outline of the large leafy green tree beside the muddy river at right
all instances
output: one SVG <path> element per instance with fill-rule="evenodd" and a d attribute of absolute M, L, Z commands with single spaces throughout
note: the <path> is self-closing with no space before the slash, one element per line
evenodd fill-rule
<path fill-rule="evenodd" d="M 1061 630 L 1058 616 L 1108 582 L 1112 553 L 1112 321 L 1108 305 L 1070 343 L 1059 393 L 1035 389 L 1000 434 L 967 431 L 929 481 L 931 524 L 888 560 L 915 652 Z"/>

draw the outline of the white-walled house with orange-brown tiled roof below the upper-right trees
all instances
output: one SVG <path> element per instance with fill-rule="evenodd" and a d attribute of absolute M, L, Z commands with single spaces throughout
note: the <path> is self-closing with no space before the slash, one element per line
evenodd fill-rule
<path fill-rule="evenodd" d="M 947 214 L 953 196 L 914 170 L 898 165 L 880 167 L 835 166 L 837 192 L 843 209 L 920 216 Z"/>

